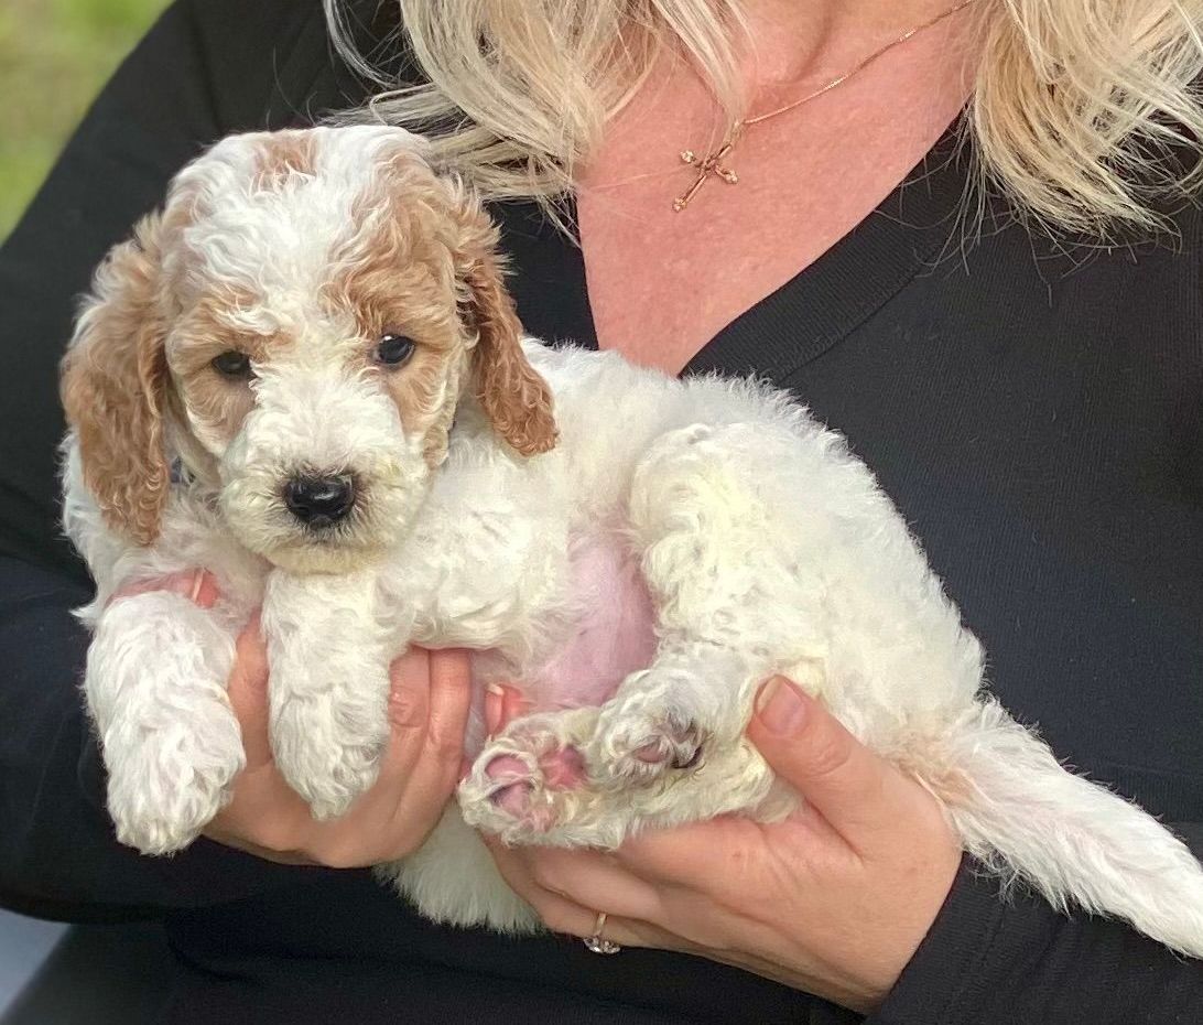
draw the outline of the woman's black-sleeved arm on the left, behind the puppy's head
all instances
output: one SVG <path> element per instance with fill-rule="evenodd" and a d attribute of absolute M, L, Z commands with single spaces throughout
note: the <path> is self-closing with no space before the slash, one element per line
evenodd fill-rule
<path fill-rule="evenodd" d="M 93 106 L 0 249 L 0 900 L 112 917 L 243 895 L 298 870 L 201 842 L 117 845 L 77 683 L 87 576 L 58 528 L 58 361 L 103 253 L 224 134 L 295 119 L 324 70 L 318 0 L 180 0 Z M 36 89 L 34 90 L 36 93 Z"/>

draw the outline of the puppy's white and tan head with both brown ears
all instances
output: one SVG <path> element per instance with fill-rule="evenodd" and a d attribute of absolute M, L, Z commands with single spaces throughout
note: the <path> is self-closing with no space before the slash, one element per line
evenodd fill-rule
<path fill-rule="evenodd" d="M 150 544 L 179 457 L 247 547 L 338 571 L 403 531 L 466 392 L 516 451 L 550 449 L 496 243 L 398 129 L 218 143 L 109 254 L 64 360 L 107 521 Z"/>

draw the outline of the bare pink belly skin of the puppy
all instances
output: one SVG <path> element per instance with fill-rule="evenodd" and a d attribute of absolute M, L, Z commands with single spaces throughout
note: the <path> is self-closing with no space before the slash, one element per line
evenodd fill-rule
<path fill-rule="evenodd" d="M 656 653 L 651 596 L 622 538 L 603 533 L 579 539 L 570 587 L 573 604 L 583 609 L 580 627 L 521 681 L 532 711 L 600 705 Z"/>

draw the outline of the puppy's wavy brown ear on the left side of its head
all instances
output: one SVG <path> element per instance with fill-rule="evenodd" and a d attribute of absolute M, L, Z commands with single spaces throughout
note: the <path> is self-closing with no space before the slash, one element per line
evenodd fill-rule
<path fill-rule="evenodd" d="M 141 545 L 159 537 L 170 467 L 164 449 L 167 361 L 158 307 L 159 217 L 106 257 L 63 360 L 60 389 L 84 482 L 105 520 Z"/>

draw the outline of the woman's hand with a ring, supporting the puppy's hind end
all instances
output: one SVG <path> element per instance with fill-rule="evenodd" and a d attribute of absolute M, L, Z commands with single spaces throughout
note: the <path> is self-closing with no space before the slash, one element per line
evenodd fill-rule
<path fill-rule="evenodd" d="M 510 716 L 493 699 L 491 724 Z M 935 920 L 960 846 L 923 787 L 818 703 L 770 681 L 748 736 L 806 799 L 789 820 L 722 818 L 648 833 L 614 853 L 490 841 L 549 928 L 735 965 L 867 1012 Z M 621 956 L 621 955 L 620 955 Z"/>

